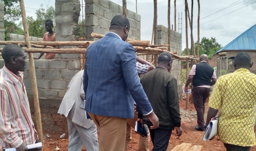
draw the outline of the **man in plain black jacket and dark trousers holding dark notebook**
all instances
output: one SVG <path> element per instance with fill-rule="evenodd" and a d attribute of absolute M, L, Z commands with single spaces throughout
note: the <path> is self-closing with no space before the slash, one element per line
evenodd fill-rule
<path fill-rule="evenodd" d="M 159 127 L 150 129 L 153 124 L 148 115 L 138 112 L 138 121 L 149 126 L 150 137 L 154 148 L 152 151 L 166 151 L 174 127 L 176 136 L 182 134 L 180 127 L 180 105 L 177 88 L 177 80 L 170 74 L 173 58 L 170 53 L 164 52 L 159 55 L 158 67 L 149 71 L 141 78 L 141 84 L 155 115 L 159 118 Z"/>

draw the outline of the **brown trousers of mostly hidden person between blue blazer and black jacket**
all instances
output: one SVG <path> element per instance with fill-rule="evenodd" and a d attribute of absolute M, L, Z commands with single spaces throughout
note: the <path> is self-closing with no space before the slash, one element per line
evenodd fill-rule
<path fill-rule="evenodd" d="M 132 129 L 131 127 L 135 127 L 135 122 L 138 119 L 138 113 L 136 112 L 136 107 L 134 110 L 134 118 L 133 119 L 126 119 L 127 120 L 127 124 L 126 124 L 126 138 L 125 138 L 125 150 L 127 151 L 128 149 L 128 144 L 131 142 L 131 132 Z M 140 135 L 140 139 L 139 139 L 139 148 L 138 151 L 149 151 L 149 128 L 148 128 L 148 136 L 147 137 L 143 137 Z"/>

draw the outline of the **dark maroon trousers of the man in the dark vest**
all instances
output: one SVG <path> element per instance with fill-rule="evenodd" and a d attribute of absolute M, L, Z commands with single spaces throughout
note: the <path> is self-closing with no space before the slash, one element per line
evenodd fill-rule
<path fill-rule="evenodd" d="M 210 95 L 211 88 L 193 87 L 193 101 L 197 111 L 197 124 L 199 128 L 204 128 L 204 103 Z"/>

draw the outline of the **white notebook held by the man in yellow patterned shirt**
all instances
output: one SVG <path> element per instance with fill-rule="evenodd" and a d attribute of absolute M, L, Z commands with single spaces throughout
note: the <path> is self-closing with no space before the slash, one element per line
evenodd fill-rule
<path fill-rule="evenodd" d="M 208 141 L 212 137 L 218 135 L 218 122 L 219 122 L 218 116 L 213 117 L 211 119 L 209 125 L 207 126 L 207 128 L 204 132 L 204 136 L 203 136 L 204 141 Z"/>

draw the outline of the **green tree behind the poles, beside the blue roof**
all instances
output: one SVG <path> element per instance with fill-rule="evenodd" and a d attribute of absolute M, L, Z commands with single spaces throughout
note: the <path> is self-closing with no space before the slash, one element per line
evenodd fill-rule
<path fill-rule="evenodd" d="M 197 54 L 198 42 L 195 42 L 194 45 L 195 45 L 195 52 Z M 218 42 L 216 42 L 215 38 L 211 37 L 209 39 L 209 38 L 203 37 L 199 44 L 199 56 L 202 54 L 207 54 L 208 59 L 212 59 L 213 54 L 215 54 L 215 52 L 221 48 L 222 48 L 222 45 L 219 44 Z M 188 55 L 190 55 L 190 54 L 191 53 L 190 53 L 190 49 L 189 49 Z M 182 51 L 182 55 L 183 56 L 186 55 L 186 48 Z"/>

